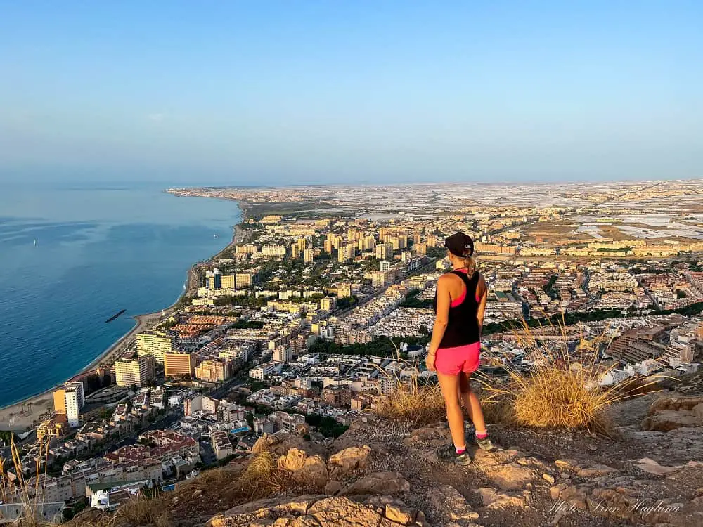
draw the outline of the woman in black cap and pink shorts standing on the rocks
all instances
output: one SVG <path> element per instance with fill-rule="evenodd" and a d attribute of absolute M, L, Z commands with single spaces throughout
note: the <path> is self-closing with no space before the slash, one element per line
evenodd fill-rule
<path fill-rule="evenodd" d="M 444 246 L 448 250 L 452 271 L 437 281 L 434 300 L 437 315 L 427 354 L 427 369 L 437 372 L 453 442 L 453 449 L 442 451 L 441 457 L 457 464 L 470 464 L 460 399 L 474 423 L 479 447 L 482 450 L 493 448 L 481 403 L 469 384 L 471 374 L 479 367 L 488 288 L 486 280 L 476 270 L 472 258 L 474 242 L 470 236 L 453 234 L 444 240 Z"/>

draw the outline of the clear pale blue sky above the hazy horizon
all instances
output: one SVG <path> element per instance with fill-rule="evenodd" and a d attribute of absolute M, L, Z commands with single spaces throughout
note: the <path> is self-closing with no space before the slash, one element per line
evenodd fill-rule
<path fill-rule="evenodd" d="M 0 0 L 0 181 L 703 177 L 703 2 Z"/>

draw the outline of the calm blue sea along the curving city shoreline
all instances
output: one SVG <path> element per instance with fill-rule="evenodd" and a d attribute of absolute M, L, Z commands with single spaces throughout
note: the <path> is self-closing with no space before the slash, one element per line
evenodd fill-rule
<path fill-rule="evenodd" d="M 176 301 L 188 268 L 240 219 L 236 202 L 161 186 L 4 187 L 0 407 L 72 377 L 134 327 L 131 315 Z"/>

